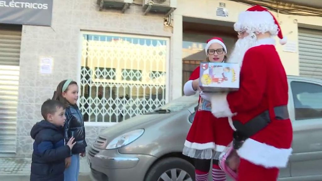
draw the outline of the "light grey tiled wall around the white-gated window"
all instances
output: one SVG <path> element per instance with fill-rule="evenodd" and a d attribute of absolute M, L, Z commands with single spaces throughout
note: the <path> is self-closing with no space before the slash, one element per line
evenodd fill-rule
<path fill-rule="evenodd" d="M 172 36 L 164 26 L 164 15 L 143 15 L 142 6 L 131 5 L 122 14 L 118 10 L 98 11 L 97 0 L 54 0 L 52 27 L 23 26 L 19 102 L 17 116 L 17 155 L 30 158 L 30 129 L 42 119 L 40 107 L 52 98 L 58 83 L 78 80 L 81 30 Z M 40 57 L 54 59 L 52 74 L 40 73 Z M 86 127 L 89 145 L 97 137 L 99 127 Z"/>

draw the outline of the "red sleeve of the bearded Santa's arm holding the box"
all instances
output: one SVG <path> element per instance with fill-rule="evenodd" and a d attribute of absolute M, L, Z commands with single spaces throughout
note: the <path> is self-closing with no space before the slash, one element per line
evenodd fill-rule
<path fill-rule="evenodd" d="M 260 104 L 266 89 L 267 73 L 262 53 L 256 48 L 249 49 L 243 59 L 240 88 L 227 95 L 233 113 L 251 110 Z"/>

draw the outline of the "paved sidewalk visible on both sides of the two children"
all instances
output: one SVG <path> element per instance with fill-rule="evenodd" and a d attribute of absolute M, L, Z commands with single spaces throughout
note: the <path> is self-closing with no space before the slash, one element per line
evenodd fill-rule
<path fill-rule="evenodd" d="M 0 181 L 29 181 L 31 159 L 0 158 Z M 79 181 L 90 181 L 86 159 L 80 163 Z"/>

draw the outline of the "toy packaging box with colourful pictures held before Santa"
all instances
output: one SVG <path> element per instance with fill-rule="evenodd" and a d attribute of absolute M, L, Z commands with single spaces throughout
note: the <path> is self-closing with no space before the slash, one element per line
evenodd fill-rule
<path fill-rule="evenodd" d="M 199 87 L 204 92 L 226 92 L 239 89 L 238 63 L 201 62 Z"/>

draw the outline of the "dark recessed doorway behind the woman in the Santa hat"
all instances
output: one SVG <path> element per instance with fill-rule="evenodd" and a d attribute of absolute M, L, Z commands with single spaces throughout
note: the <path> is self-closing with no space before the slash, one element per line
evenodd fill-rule
<path fill-rule="evenodd" d="M 206 41 L 212 37 L 223 39 L 227 47 L 227 57 L 237 41 L 237 33 L 232 22 L 184 17 L 182 43 L 182 85 L 189 80 L 191 73 L 200 62 L 206 61 Z"/>

